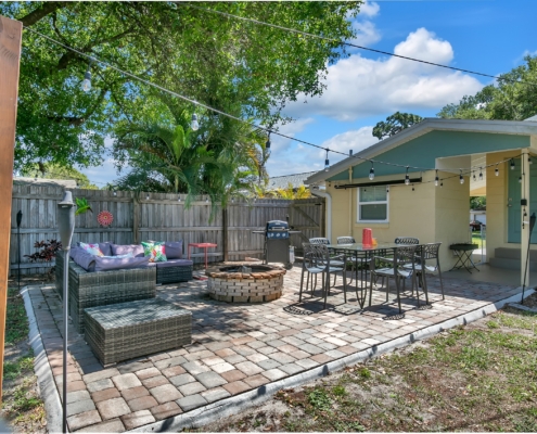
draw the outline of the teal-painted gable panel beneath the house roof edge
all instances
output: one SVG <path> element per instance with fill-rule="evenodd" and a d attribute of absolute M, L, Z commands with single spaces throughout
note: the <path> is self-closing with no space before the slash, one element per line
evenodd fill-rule
<path fill-rule="evenodd" d="M 440 157 L 510 151 L 522 148 L 529 148 L 529 136 L 435 130 L 401 143 L 397 148 L 374 156 L 373 159 L 433 168 L 435 167 L 435 159 Z M 353 178 L 367 178 L 370 168 L 371 164 L 368 162 L 357 164 L 353 167 Z M 401 175 L 405 171 L 402 167 L 384 164 L 374 166 L 375 176 Z M 412 171 L 410 170 L 410 173 Z M 348 169 L 327 179 L 327 181 L 344 180 L 348 180 Z"/>

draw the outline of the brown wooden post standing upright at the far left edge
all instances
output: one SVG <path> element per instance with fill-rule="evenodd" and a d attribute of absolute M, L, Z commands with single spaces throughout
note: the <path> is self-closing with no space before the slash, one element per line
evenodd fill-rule
<path fill-rule="evenodd" d="M 23 24 L 0 15 L 0 403 L 8 309 L 11 197 Z"/>

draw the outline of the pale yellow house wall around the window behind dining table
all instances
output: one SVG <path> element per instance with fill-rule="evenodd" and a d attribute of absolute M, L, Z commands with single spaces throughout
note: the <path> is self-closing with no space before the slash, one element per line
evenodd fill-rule
<path fill-rule="evenodd" d="M 453 177 L 453 174 L 439 173 L 438 176 Z M 461 184 L 459 177 L 455 176 L 444 180 L 444 187 L 440 188 L 432 182 L 434 177 L 434 171 L 424 173 L 423 183 L 415 184 L 414 191 L 411 186 L 391 186 L 389 221 L 383 224 L 358 222 L 358 190 L 335 189 L 336 183 L 329 183 L 327 192 L 332 196 L 332 243 L 336 242 L 337 237 L 348 234 L 361 242 L 363 228 L 371 228 L 379 243 L 394 242 L 397 237 L 415 237 L 424 243 L 439 241 L 443 243 L 440 265 L 444 270 L 449 270 L 455 264 L 449 244 L 469 241 L 469 179 L 466 177 L 464 184 Z M 393 175 L 375 177 L 374 180 L 392 179 Z M 353 182 L 367 181 L 369 180 L 353 179 Z"/>

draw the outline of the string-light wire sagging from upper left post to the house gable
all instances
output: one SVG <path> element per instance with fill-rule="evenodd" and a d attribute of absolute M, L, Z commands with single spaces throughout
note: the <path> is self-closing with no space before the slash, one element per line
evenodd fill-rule
<path fill-rule="evenodd" d="M 296 139 L 296 138 L 294 138 L 294 137 L 292 137 L 292 136 L 287 136 L 287 135 L 284 135 L 284 133 L 282 133 L 282 132 L 274 131 L 274 130 L 272 130 L 272 129 L 270 129 L 270 128 L 268 128 L 268 127 L 264 127 L 264 126 L 260 126 L 260 125 L 257 125 L 257 124 L 251 123 L 251 122 L 248 122 L 248 120 L 241 119 L 240 117 L 233 116 L 233 115 L 231 115 L 231 114 L 229 114 L 229 113 L 222 112 L 222 111 L 220 111 L 220 110 L 218 110 L 218 108 L 214 108 L 214 107 L 212 107 L 212 106 L 209 106 L 209 105 L 206 105 L 206 104 L 204 104 L 204 103 L 201 103 L 201 102 L 199 102 L 199 101 L 195 101 L 195 100 L 193 100 L 193 99 L 191 99 L 191 98 L 188 98 L 188 97 L 184 97 L 184 95 L 182 95 L 182 94 L 180 94 L 180 93 L 174 92 L 172 90 L 166 89 L 166 88 L 164 88 L 163 86 L 159 86 L 159 85 L 157 85 L 157 84 L 154 84 L 154 82 L 152 82 L 152 81 L 149 81 L 149 80 L 146 80 L 146 79 L 144 79 L 144 78 L 141 78 L 141 77 L 139 77 L 139 76 L 137 76 L 137 75 L 132 74 L 132 73 L 129 73 L 129 72 L 127 72 L 127 71 L 120 69 L 120 68 L 118 68 L 117 66 L 115 66 L 115 65 L 113 65 L 113 64 L 111 64 L 111 63 L 107 63 L 107 62 L 101 61 L 101 60 L 97 59 L 97 58 L 95 58 L 95 56 L 93 56 L 93 55 L 87 54 L 87 53 L 85 53 L 85 52 L 82 52 L 82 51 L 80 51 L 80 50 L 77 50 L 77 49 L 75 49 L 75 48 L 73 48 L 73 47 L 69 47 L 69 46 L 67 46 L 67 44 L 63 43 L 63 42 L 60 42 L 59 40 L 56 40 L 56 39 L 54 39 L 54 38 L 51 38 L 50 36 L 43 35 L 43 34 L 41 34 L 41 33 L 39 33 L 39 31 L 37 31 L 37 30 L 35 30 L 35 29 L 30 28 L 30 27 L 24 27 L 24 28 L 25 28 L 26 30 L 29 30 L 29 31 L 31 31 L 31 33 L 36 34 L 36 35 L 39 35 L 39 36 L 40 36 L 40 37 L 42 37 L 42 38 L 46 38 L 46 39 L 50 40 L 51 42 L 53 42 L 53 43 L 55 43 L 55 44 L 57 44 L 57 46 L 60 46 L 60 47 L 63 47 L 63 48 L 64 48 L 64 49 L 66 49 L 66 50 L 73 51 L 73 52 L 77 53 L 78 55 L 80 55 L 80 56 L 82 56 L 82 58 L 88 59 L 89 61 L 92 61 L 92 62 L 99 63 L 99 64 L 101 64 L 101 65 L 104 65 L 104 66 L 106 66 L 106 67 L 110 67 L 111 69 L 114 69 L 114 71 L 118 72 L 119 74 L 123 74 L 123 75 L 125 75 L 125 76 L 128 76 L 128 77 L 130 77 L 130 78 L 133 78 L 133 79 L 136 79 L 136 80 L 138 80 L 138 81 L 141 81 L 141 82 L 143 82 L 143 84 L 148 85 L 148 86 L 152 86 L 152 87 L 154 87 L 154 88 L 156 88 L 156 89 L 158 89 L 158 90 L 161 90 L 161 91 L 163 91 L 163 92 L 169 93 L 169 94 L 171 94 L 171 95 L 174 95 L 174 97 L 180 98 L 181 100 L 187 101 L 187 102 L 190 102 L 191 104 L 194 104 L 194 105 L 201 106 L 201 107 L 203 107 L 203 108 L 205 108 L 205 110 L 207 110 L 207 111 L 214 112 L 214 113 L 218 113 L 218 114 L 220 114 L 220 115 L 222 115 L 222 116 L 229 117 L 229 118 L 234 119 L 234 120 L 238 120 L 238 122 L 240 122 L 240 123 L 243 123 L 243 124 L 250 125 L 251 127 L 254 127 L 254 128 L 260 129 L 260 130 L 266 131 L 266 132 L 268 132 L 268 133 L 277 135 L 277 136 L 283 137 L 283 138 L 285 138 L 285 139 L 293 140 L 293 141 L 295 141 L 295 142 L 306 144 L 306 145 L 308 145 L 308 146 L 317 148 L 317 149 L 322 150 L 322 151 L 332 152 L 332 153 L 334 153 L 334 154 L 344 155 L 344 156 L 346 156 L 346 157 L 353 157 L 353 158 L 356 158 L 356 159 L 361 161 L 361 162 L 371 162 L 371 163 L 376 163 L 376 164 L 384 164 L 384 165 L 386 165 L 386 166 L 392 166 L 392 167 L 399 167 L 399 168 L 405 168 L 405 169 L 409 169 L 409 168 L 410 168 L 410 169 L 415 169 L 415 170 L 421 170 L 421 171 L 426 171 L 426 170 L 435 170 L 435 168 L 430 168 L 430 167 L 410 166 L 410 165 L 405 165 L 405 164 L 397 164 L 397 163 L 383 162 L 383 161 L 380 161 L 380 159 L 366 158 L 366 157 L 361 157 L 361 156 L 358 156 L 358 155 L 348 155 L 348 154 L 347 154 L 347 153 L 345 153 L 345 152 L 335 151 L 335 150 L 332 150 L 332 149 L 330 149 L 330 148 L 323 148 L 323 146 L 321 146 L 321 145 L 319 145 L 319 144 L 315 144 L 315 143 L 307 142 L 307 141 L 305 141 L 305 140 Z M 488 167 L 488 166 L 483 166 L 483 167 Z M 460 170 L 461 170 L 463 174 L 465 174 L 465 173 L 466 173 L 466 170 L 472 171 L 472 169 L 473 169 L 473 168 L 472 168 L 472 167 L 470 167 L 470 169 L 469 169 L 469 168 L 461 168 Z"/>

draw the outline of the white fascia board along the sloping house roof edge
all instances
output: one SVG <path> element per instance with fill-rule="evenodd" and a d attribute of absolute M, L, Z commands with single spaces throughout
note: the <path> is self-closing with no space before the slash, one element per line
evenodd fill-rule
<path fill-rule="evenodd" d="M 468 131 L 468 132 L 487 132 L 498 135 L 537 135 L 537 125 L 527 120 L 487 120 L 487 119 L 443 119 L 429 117 L 421 123 L 404 129 L 395 136 L 388 137 L 379 143 L 375 143 L 357 154 L 349 156 L 341 162 L 330 166 L 329 171 L 318 171 L 307 178 L 304 183 L 323 182 L 351 166 L 357 166 L 363 159 L 374 158 L 376 155 L 397 148 L 417 137 L 423 136 L 433 130 L 445 131 Z"/>

